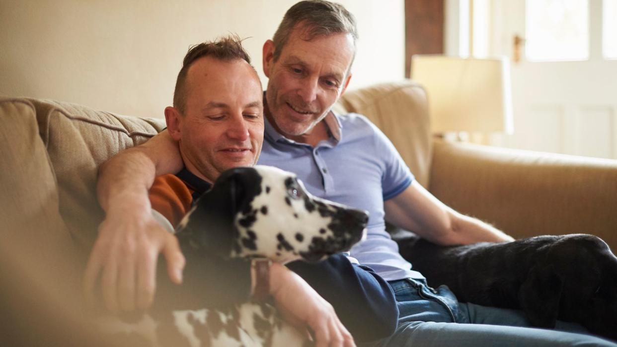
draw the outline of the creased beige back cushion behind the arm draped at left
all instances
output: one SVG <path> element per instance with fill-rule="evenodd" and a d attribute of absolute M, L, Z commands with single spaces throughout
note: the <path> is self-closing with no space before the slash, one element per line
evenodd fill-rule
<path fill-rule="evenodd" d="M 89 248 L 104 216 L 96 200 L 99 165 L 121 150 L 145 142 L 164 128 L 165 121 L 52 100 L 30 102 L 56 173 L 60 214 L 73 239 Z"/>

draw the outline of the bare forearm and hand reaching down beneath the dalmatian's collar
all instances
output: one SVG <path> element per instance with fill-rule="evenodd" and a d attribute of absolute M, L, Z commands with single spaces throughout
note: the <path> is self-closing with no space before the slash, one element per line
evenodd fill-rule
<path fill-rule="evenodd" d="M 317 347 L 355 346 L 354 338 L 336 316 L 334 308 L 302 277 L 287 267 L 270 267 L 270 293 L 283 317 L 299 329 L 313 331 Z"/>

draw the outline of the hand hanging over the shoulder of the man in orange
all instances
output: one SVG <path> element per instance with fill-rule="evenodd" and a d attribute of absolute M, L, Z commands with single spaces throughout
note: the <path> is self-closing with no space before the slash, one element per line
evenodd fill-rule
<path fill-rule="evenodd" d="M 125 201 L 125 205 L 107 211 L 84 277 L 86 300 L 93 303 L 100 275 L 102 296 L 112 312 L 145 309 L 152 304 L 159 253 L 167 260 L 172 282 L 182 282 L 184 268 L 178 240 L 155 221 L 149 204 L 139 206 L 131 198 Z"/>

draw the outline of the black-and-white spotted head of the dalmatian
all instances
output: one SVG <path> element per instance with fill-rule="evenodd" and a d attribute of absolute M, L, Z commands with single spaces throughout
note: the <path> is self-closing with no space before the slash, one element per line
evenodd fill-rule
<path fill-rule="evenodd" d="M 365 211 L 313 197 L 295 174 L 271 166 L 225 171 L 178 229 L 223 256 L 318 261 L 362 239 Z"/>

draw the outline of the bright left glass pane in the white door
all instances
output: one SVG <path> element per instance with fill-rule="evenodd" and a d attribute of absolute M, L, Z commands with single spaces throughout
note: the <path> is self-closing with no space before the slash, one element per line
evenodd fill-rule
<path fill-rule="evenodd" d="M 589 59 L 589 0 L 526 0 L 525 25 L 528 60 Z"/>

